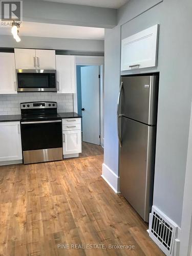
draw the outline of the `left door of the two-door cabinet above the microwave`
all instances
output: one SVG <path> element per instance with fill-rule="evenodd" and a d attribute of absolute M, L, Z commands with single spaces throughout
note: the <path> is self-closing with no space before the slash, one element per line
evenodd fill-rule
<path fill-rule="evenodd" d="M 14 49 L 16 69 L 36 69 L 34 49 Z"/>

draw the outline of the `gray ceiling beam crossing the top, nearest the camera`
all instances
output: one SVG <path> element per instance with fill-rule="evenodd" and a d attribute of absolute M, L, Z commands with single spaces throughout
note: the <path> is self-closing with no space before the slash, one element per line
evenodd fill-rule
<path fill-rule="evenodd" d="M 113 28 L 117 10 L 42 0 L 23 1 L 23 20 L 50 24 Z M 49 28 L 48 28 L 49 29 Z"/>

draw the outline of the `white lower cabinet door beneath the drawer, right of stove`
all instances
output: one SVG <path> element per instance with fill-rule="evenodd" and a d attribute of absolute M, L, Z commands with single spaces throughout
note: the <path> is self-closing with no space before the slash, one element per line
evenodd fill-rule
<path fill-rule="evenodd" d="M 63 155 L 81 153 L 81 131 L 63 132 Z"/>

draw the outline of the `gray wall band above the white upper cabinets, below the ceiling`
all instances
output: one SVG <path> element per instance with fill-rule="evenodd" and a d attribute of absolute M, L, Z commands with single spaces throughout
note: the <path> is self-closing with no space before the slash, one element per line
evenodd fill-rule
<path fill-rule="evenodd" d="M 16 42 L 12 35 L 0 35 L 0 47 L 42 48 L 72 51 L 103 52 L 104 40 L 22 36 Z"/>

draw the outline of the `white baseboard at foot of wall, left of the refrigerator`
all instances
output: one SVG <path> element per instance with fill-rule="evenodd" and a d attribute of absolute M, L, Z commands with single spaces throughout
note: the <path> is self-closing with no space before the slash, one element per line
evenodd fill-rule
<path fill-rule="evenodd" d="M 113 170 L 111 170 L 106 164 L 102 164 L 102 175 L 103 180 L 115 191 L 116 194 L 120 194 L 119 191 L 119 176 L 117 176 Z"/>

